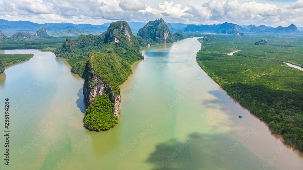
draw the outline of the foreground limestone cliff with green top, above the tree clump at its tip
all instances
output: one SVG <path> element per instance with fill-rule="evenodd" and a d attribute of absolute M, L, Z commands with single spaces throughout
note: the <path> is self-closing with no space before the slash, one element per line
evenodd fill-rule
<path fill-rule="evenodd" d="M 122 69 L 124 68 L 124 69 Z M 83 85 L 85 100 L 91 104 L 96 96 L 104 93 L 115 105 L 115 116 L 119 119 L 118 106 L 121 96 L 118 85 L 132 73 L 130 65 L 119 59 L 112 50 L 106 53 L 91 51 L 88 54 L 86 77 Z"/>

